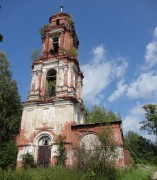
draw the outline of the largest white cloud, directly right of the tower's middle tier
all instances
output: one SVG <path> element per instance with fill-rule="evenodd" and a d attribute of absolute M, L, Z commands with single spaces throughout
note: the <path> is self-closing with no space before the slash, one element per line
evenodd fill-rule
<path fill-rule="evenodd" d="M 103 45 L 92 50 L 93 58 L 81 66 L 84 73 L 83 95 L 86 103 L 99 104 L 103 90 L 115 79 L 122 79 L 128 63 L 124 58 L 107 59 Z"/>

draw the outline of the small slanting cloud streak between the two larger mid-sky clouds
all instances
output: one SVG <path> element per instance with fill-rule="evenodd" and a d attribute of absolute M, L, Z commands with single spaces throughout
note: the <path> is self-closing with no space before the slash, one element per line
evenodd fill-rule
<path fill-rule="evenodd" d="M 120 81 L 117 83 L 117 90 L 114 91 L 110 97 L 108 98 L 108 101 L 109 102 L 113 102 L 115 100 L 117 100 L 119 97 L 121 97 L 124 92 L 126 91 L 127 89 L 127 85 L 123 83 L 123 81 Z"/>

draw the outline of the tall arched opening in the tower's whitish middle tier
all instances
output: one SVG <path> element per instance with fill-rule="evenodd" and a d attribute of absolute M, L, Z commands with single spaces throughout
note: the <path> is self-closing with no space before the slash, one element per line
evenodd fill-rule
<path fill-rule="evenodd" d="M 56 92 L 56 70 L 51 69 L 47 73 L 47 95 L 55 96 Z"/>

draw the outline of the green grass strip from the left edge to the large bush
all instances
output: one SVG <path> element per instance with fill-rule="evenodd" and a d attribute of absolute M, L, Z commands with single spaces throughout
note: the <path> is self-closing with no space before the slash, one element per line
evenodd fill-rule
<path fill-rule="evenodd" d="M 48 168 L 35 168 L 35 169 L 19 169 L 0 171 L 0 180 L 90 180 L 91 177 L 76 170 L 61 168 L 61 167 L 48 167 Z M 92 178 L 93 179 L 93 178 Z M 103 178 L 95 177 L 96 180 Z"/>

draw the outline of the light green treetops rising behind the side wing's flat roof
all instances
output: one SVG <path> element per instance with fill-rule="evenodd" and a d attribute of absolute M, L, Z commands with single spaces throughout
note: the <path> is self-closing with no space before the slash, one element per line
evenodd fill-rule
<path fill-rule="evenodd" d="M 92 111 L 87 109 L 86 123 L 115 122 L 121 121 L 120 114 L 115 114 L 112 110 L 107 112 L 104 107 L 93 106 Z"/>

